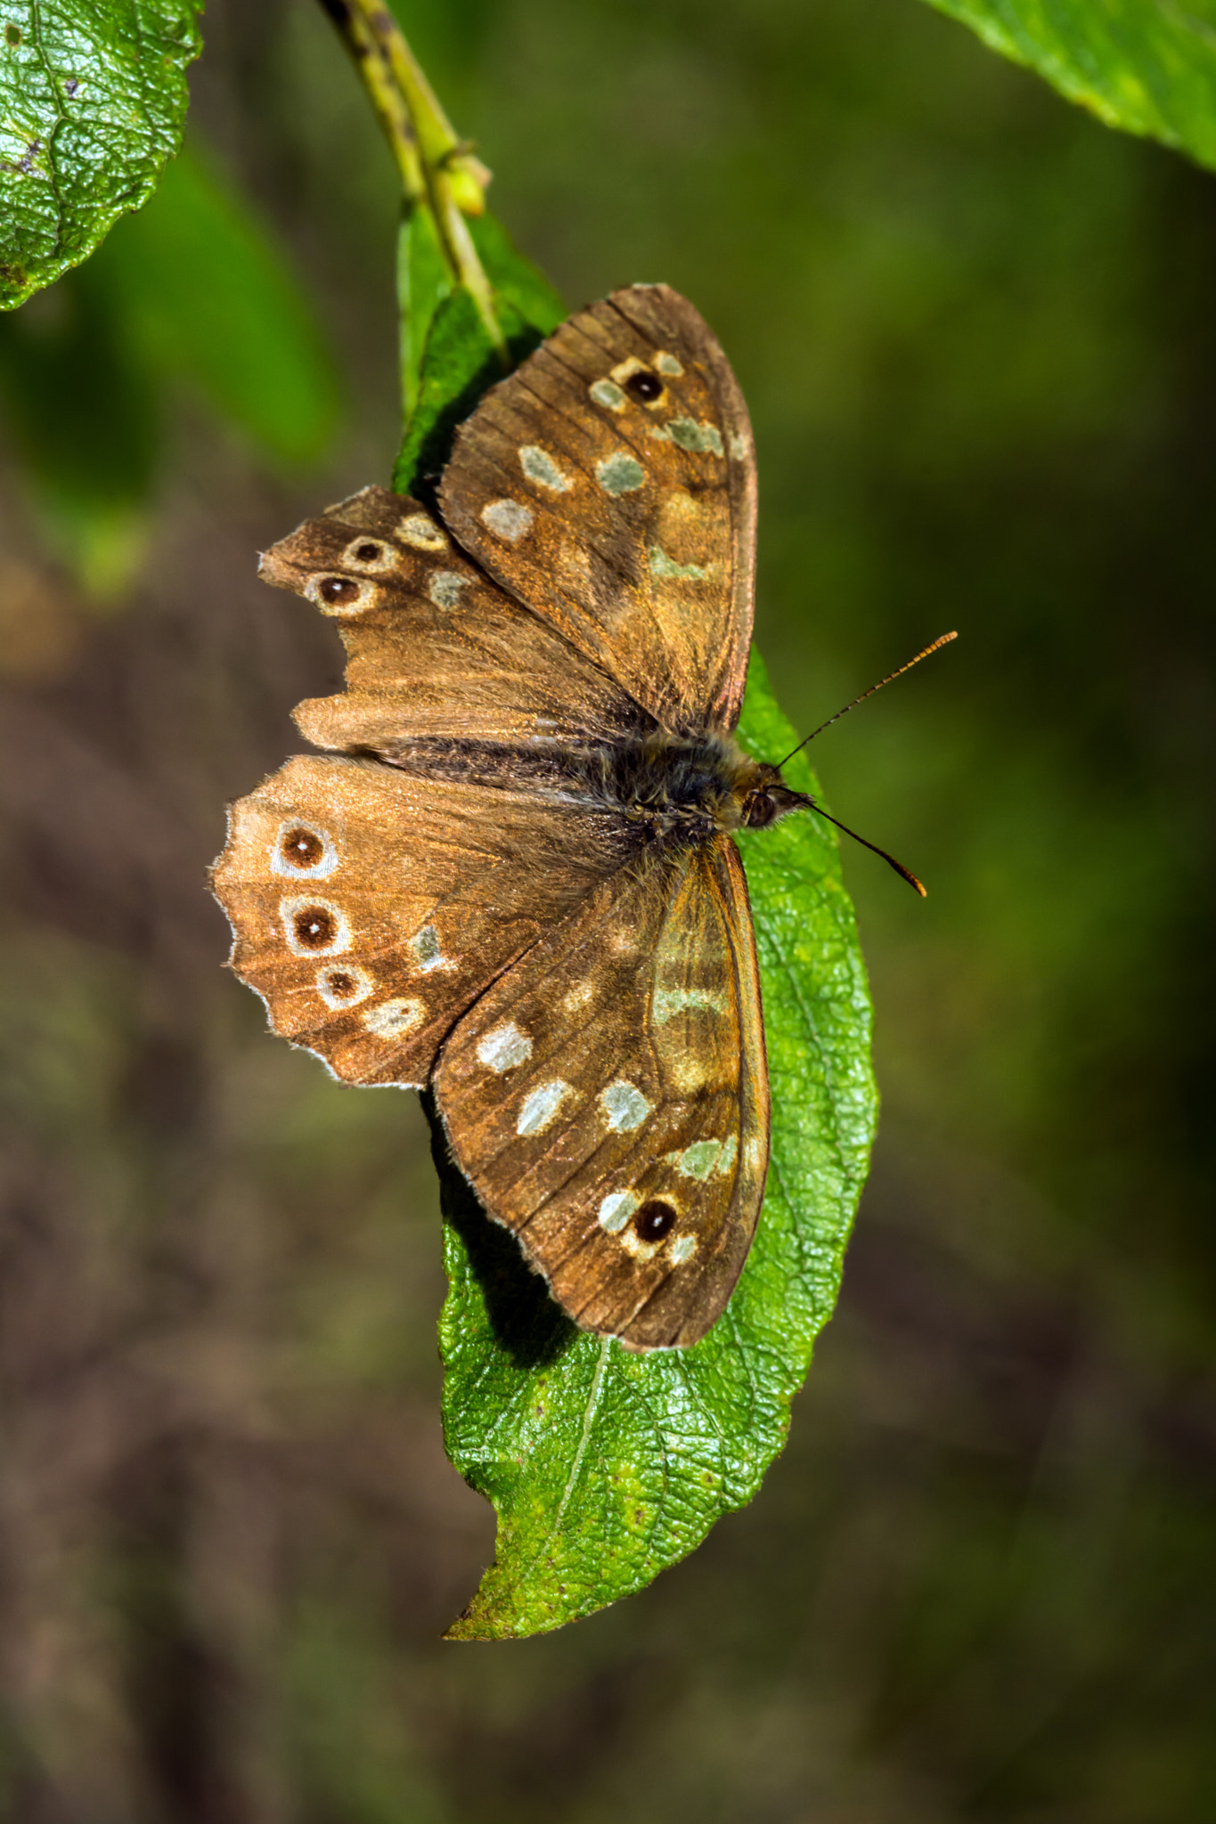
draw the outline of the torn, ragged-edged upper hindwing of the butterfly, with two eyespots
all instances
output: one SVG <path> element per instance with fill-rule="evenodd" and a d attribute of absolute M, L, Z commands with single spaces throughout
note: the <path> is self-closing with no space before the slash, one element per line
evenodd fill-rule
<path fill-rule="evenodd" d="M 332 615 L 346 689 L 299 704 L 319 748 L 423 764 L 436 741 L 613 741 L 653 719 L 598 666 L 496 589 L 416 500 L 365 487 L 261 562 Z"/>

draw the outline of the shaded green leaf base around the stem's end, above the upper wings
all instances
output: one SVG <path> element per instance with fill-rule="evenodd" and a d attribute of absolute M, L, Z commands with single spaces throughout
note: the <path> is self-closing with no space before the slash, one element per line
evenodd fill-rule
<path fill-rule="evenodd" d="M 494 290 L 510 361 L 518 365 L 558 326 L 565 306 L 492 215 L 472 217 L 469 228 Z M 427 208 L 410 210 L 403 224 L 397 286 L 407 416 L 392 485 L 399 494 L 414 494 L 425 476 L 439 472 L 456 425 L 505 370 L 470 292 L 448 275 Z"/>

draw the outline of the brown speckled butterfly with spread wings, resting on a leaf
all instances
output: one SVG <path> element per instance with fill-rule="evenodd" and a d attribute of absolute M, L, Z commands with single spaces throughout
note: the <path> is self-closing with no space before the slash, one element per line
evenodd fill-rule
<path fill-rule="evenodd" d="M 769 1087 L 733 832 L 811 801 L 735 739 L 757 467 L 664 285 L 572 316 L 261 575 L 337 620 L 323 753 L 230 808 L 232 967 L 348 1083 L 430 1087 L 489 1215 L 585 1330 L 696 1342 L 760 1215 Z"/>

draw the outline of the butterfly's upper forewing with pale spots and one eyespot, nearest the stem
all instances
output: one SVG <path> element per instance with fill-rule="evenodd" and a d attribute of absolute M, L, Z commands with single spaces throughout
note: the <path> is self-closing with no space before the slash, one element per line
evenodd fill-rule
<path fill-rule="evenodd" d="M 465 551 L 658 722 L 735 726 L 755 447 L 684 297 L 634 285 L 563 323 L 461 425 L 439 502 Z"/>

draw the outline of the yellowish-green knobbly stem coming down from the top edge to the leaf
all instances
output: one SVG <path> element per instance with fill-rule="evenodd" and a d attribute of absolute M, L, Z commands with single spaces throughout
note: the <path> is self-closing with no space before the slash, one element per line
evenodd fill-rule
<path fill-rule="evenodd" d="M 479 215 L 490 173 L 472 159 L 443 113 L 417 58 L 383 0 L 321 0 L 368 93 L 401 173 L 410 208 L 427 208 L 456 285 L 472 297 L 503 368 L 507 337 L 465 213 Z"/>

